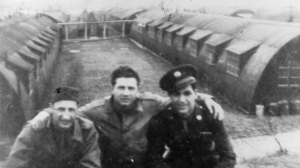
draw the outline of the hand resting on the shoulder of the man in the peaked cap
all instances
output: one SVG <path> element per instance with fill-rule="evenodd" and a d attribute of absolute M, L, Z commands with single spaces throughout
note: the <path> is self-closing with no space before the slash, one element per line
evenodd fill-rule
<path fill-rule="evenodd" d="M 213 96 L 204 94 L 204 93 L 196 93 L 199 100 L 204 101 L 207 106 L 209 112 L 214 114 L 214 118 L 218 118 L 218 120 L 224 119 L 224 110 L 223 108 L 213 100 Z"/>

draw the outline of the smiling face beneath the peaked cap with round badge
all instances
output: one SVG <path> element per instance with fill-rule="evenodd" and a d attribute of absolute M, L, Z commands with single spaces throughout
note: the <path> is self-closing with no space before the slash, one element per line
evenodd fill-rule
<path fill-rule="evenodd" d="M 169 95 L 176 107 L 176 111 L 182 117 L 188 117 L 193 112 L 197 96 L 190 84 L 180 90 L 169 93 Z"/>

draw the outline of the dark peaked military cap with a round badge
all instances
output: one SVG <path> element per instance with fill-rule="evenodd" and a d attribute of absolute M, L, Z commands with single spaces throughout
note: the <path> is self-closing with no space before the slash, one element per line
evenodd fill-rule
<path fill-rule="evenodd" d="M 172 91 L 183 88 L 196 82 L 197 68 L 185 64 L 170 69 L 161 79 L 160 88 L 165 91 Z"/>

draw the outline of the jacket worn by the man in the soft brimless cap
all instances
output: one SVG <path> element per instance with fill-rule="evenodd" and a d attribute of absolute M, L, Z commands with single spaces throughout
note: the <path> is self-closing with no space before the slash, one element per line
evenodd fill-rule
<path fill-rule="evenodd" d="M 28 121 L 10 151 L 7 167 L 101 167 L 92 121 L 78 116 L 73 133 L 65 137 L 52 128 L 34 130 Z"/>

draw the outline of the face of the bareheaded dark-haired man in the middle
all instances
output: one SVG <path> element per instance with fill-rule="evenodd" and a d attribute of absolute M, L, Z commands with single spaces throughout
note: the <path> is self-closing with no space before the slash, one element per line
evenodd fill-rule
<path fill-rule="evenodd" d="M 136 100 L 137 91 L 138 86 L 135 78 L 117 78 L 112 91 L 114 102 L 125 107 L 131 106 Z"/>

